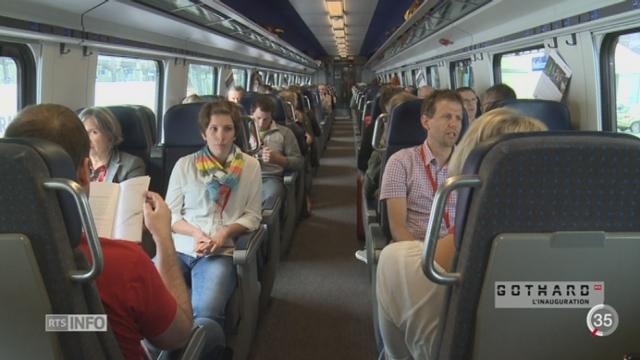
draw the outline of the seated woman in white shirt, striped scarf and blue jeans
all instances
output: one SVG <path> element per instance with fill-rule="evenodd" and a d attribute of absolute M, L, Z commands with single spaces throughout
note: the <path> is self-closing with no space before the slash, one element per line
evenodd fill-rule
<path fill-rule="evenodd" d="M 167 189 L 194 322 L 207 333 L 206 359 L 217 358 L 225 346 L 224 310 L 236 287 L 233 238 L 257 229 L 261 220 L 260 163 L 234 144 L 239 121 L 229 101 L 203 105 L 198 125 L 206 145 L 178 160 Z"/>

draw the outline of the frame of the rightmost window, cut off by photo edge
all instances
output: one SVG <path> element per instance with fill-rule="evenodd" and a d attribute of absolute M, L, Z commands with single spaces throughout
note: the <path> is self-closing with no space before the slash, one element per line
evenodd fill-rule
<path fill-rule="evenodd" d="M 606 34 L 600 45 L 600 97 L 601 125 L 603 131 L 618 132 L 616 110 L 616 66 L 615 54 L 618 38 L 631 33 L 640 33 L 640 27 L 614 31 Z M 613 86 L 612 86 L 613 85 Z"/>

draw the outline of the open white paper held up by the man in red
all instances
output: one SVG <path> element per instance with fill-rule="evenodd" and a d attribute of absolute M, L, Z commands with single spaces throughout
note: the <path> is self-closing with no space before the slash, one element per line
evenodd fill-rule
<path fill-rule="evenodd" d="M 142 241 L 142 204 L 150 178 L 139 176 L 119 184 L 92 182 L 89 204 L 98 235 Z"/>

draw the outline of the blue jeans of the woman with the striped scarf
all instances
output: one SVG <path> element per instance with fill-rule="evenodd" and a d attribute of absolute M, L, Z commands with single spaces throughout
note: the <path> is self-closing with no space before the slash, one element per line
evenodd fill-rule
<path fill-rule="evenodd" d="M 191 288 L 193 322 L 204 327 L 202 359 L 215 359 L 225 347 L 225 307 L 236 288 L 232 256 L 192 257 L 178 253 L 187 286 Z"/>

